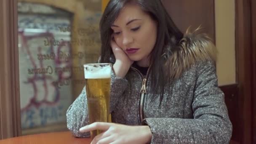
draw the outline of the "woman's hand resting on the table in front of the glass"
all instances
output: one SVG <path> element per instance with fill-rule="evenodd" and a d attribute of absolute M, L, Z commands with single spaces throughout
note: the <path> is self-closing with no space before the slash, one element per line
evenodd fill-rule
<path fill-rule="evenodd" d="M 117 123 L 96 122 L 80 128 L 81 133 L 102 130 L 91 144 L 146 144 L 151 141 L 149 126 L 130 126 Z"/>

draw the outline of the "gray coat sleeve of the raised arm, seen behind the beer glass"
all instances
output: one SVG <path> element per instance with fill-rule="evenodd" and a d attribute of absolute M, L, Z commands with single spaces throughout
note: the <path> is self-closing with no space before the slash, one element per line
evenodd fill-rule
<path fill-rule="evenodd" d="M 125 91 L 128 81 L 115 75 L 114 70 L 111 72 L 110 83 L 110 113 L 116 107 L 117 99 Z M 90 132 L 80 133 L 79 129 L 89 124 L 86 88 L 84 87 L 81 94 L 67 109 L 67 128 L 75 137 L 89 137 Z"/>

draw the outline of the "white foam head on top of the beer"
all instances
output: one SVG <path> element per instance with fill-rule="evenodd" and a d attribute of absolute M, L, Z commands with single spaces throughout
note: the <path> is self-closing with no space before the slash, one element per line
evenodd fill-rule
<path fill-rule="evenodd" d="M 85 79 L 110 78 L 111 67 L 88 67 L 85 69 Z"/>

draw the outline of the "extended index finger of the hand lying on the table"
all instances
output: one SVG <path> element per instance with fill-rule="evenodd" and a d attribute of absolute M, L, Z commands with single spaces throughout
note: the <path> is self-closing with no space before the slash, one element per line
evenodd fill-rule
<path fill-rule="evenodd" d="M 107 131 L 109 127 L 112 125 L 112 123 L 104 123 L 104 122 L 95 122 L 90 125 L 86 125 L 79 129 L 81 133 L 94 131 L 94 130 L 102 130 Z"/>

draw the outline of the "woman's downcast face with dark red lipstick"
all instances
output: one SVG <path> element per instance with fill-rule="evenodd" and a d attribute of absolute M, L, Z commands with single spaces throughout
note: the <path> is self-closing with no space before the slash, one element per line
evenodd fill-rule
<path fill-rule="evenodd" d="M 149 64 L 147 58 L 157 38 L 157 22 L 138 5 L 127 4 L 111 27 L 117 45 L 132 61 Z M 147 65 L 146 64 L 146 65 Z"/>

